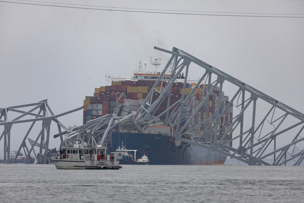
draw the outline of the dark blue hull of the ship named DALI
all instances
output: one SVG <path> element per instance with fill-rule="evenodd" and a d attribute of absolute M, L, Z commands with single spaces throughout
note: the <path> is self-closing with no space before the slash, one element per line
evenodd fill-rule
<path fill-rule="evenodd" d="M 199 146 L 186 147 L 182 143 L 173 146 L 170 136 L 162 134 L 112 132 L 111 148 L 116 149 L 124 141 L 128 149 L 136 149 L 136 157 L 144 153 L 150 165 L 221 165 L 227 156 Z"/>

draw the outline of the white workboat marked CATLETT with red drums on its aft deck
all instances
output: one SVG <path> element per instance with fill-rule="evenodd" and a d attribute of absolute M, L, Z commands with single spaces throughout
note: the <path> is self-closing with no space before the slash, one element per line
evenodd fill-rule
<path fill-rule="evenodd" d="M 106 154 L 106 144 L 94 146 L 75 141 L 60 149 L 60 154 L 52 154 L 57 169 L 120 169 L 116 155 Z"/>

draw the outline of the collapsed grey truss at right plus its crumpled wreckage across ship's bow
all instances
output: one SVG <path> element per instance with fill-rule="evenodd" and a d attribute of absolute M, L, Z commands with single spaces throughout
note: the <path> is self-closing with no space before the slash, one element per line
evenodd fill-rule
<path fill-rule="evenodd" d="M 81 139 L 79 135 L 91 133 L 101 135 L 100 142 L 104 142 L 109 132 L 117 127 L 120 122 L 133 122 L 136 131 L 144 132 L 147 126 L 155 125 L 155 121 L 159 121 L 159 118 L 165 115 L 163 124 L 171 126 L 171 136 L 176 145 L 179 145 L 177 141 L 181 141 L 186 145 L 204 147 L 249 165 L 286 165 L 287 163 L 299 165 L 302 162 L 304 150 L 299 143 L 304 141 L 304 137 L 300 135 L 304 128 L 304 114 L 180 49 L 174 47 L 173 51 L 167 51 L 158 47 L 154 48 L 172 54 L 172 56 L 136 114 L 118 117 L 117 114 L 113 113 L 88 121 L 87 124 L 74 129 L 72 132 L 66 132 L 66 138 L 77 135 L 74 136 L 74 139 Z M 185 88 L 191 62 L 205 69 L 205 73 L 192 91 L 186 94 Z M 172 63 L 172 75 L 168 80 L 164 80 L 164 75 Z M 182 96 L 177 102 L 170 105 L 172 85 L 182 71 L 185 72 Z M 214 77 L 215 80 L 213 81 L 212 78 Z M 164 89 L 157 90 L 157 84 L 161 82 L 161 86 L 163 86 L 162 84 L 165 81 L 167 83 Z M 236 90 L 229 104 L 226 107 L 221 107 L 224 82 Z M 203 83 L 205 84 L 204 89 L 201 89 L 200 85 Z M 219 95 L 216 111 L 212 116 L 208 116 L 209 97 L 213 90 L 218 87 Z M 206 91 L 207 95 L 199 103 L 189 104 L 188 102 L 191 103 L 192 97 L 195 96 L 196 88 Z M 153 101 L 152 94 L 155 91 L 160 96 Z M 164 103 L 165 98 L 168 98 L 167 110 L 154 116 L 156 110 Z M 262 103 L 262 107 L 257 107 L 257 101 Z M 230 121 L 223 123 L 221 118 L 227 114 L 230 105 L 234 106 L 233 112 L 237 115 L 230 118 Z M 264 110 L 266 106 L 269 107 L 269 110 Z M 121 105 L 118 107 L 120 108 Z M 201 114 L 203 110 L 205 110 L 207 119 L 202 121 L 195 115 Z M 264 115 L 258 118 L 257 113 Z M 284 125 L 288 126 L 283 127 Z M 200 130 L 193 133 L 192 130 L 197 126 L 201 126 Z M 58 136 L 59 134 L 54 135 L 54 137 Z M 280 138 L 281 141 L 278 142 Z M 301 149 L 295 150 L 297 149 L 296 145 L 297 148 L 300 147 Z"/>

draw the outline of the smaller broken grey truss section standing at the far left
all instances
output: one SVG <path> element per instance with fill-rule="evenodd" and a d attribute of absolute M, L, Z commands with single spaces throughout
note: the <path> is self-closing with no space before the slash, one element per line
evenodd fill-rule
<path fill-rule="evenodd" d="M 25 107 L 31 107 L 31 109 L 30 110 L 23 110 L 22 108 L 25 108 Z M 57 118 L 61 117 L 61 116 L 64 116 L 66 114 L 70 114 L 74 111 L 81 110 L 82 108 L 83 107 L 79 107 L 77 109 L 70 110 L 70 111 L 67 111 L 67 112 L 62 113 L 62 114 L 54 115 L 54 113 L 50 109 L 50 106 L 47 103 L 47 100 L 42 100 L 42 101 L 37 102 L 37 103 L 0 108 L 0 126 L 2 126 L 2 125 L 4 126 L 4 130 L 3 130 L 3 132 L 0 136 L 0 141 L 1 141 L 2 138 L 4 138 L 4 160 L 5 160 L 5 163 L 10 163 L 10 158 L 9 158 L 9 156 L 10 156 L 10 140 L 11 140 L 11 128 L 12 128 L 13 124 L 32 122 L 29 130 L 26 132 L 26 135 L 22 139 L 21 145 L 20 145 L 12 163 L 16 163 L 17 156 L 19 155 L 19 152 L 21 151 L 22 148 L 23 148 L 23 151 L 26 155 L 26 158 L 25 158 L 23 163 L 31 163 L 32 160 L 30 158 L 30 154 L 33 151 L 35 156 L 36 156 L 36 152 L 34 151 L 34 146 L 38 145 L 40 154 L 43 153 L 43 149 L 44 149 L 43 163 L 46 164 L 47 163 L 48 146 L 49 146 L 49 138 L 50 138 L 51 122 L 54 121 L 54 122 L 57 123 L 58 131 L 59 131 L 59 134 L 60 134 L 60 139 L 61 139 L 61 142 L 63 142 L 63 137 L 62 137 L 62 134 L 61 134 L 61 128 L 63 128 L 65 131 L 68 131 L 68 132 L 71 131 L 71 130 L 64 127 L 64 125 L 61 124 L 58 121 Z M 33 112 L 38 111 L 38 110 L 39 110 L 38 113 L 33 113 Z M 14 118 L 14 119 L 11 119 L 11 116 L 9 115 L 10 111 L 15 112 L 15 113 L 19 113 L 20 115 L 17 116 L 16 118 Z M 26 117 L 26 116 L 32 116 L 33 118 L 20 120 L 21 118 Z M 2 118 L 3 118 L 3 120 L 1 120 Z M 30 143 L 30 149 L 29 149 L 26 145 L 26 138 L 28 138 L 28 136 L 30 134 L 30 131 L 32 130 L 36 121 L 42 121 L 42 128 L 41 128 L 40 133 L 38 134 L 37 138 L 35 139 L 35 141 Z M 45 135 L 46 135 L 46 137 L 45 137 Z M 40 138 L 40 142 L 39 142 L 40 144 L 38 143 L 39 138 Z M 31 140 L 29 139 L 29 141 L 31 141 Z M 36 156 L 36 159 L 37 159 L 37 156 Z"/>

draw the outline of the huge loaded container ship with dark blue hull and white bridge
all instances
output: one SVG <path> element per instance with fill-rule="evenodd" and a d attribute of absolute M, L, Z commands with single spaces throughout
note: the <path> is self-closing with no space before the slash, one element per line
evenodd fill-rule
<path fill-rule="evenodd" d="M 150 72 L 146 70 L 147 62 L 144 62 L 145 69 L 143 70 L 141 61 L 139 63 L 139 71 L 135 71 L 132 77 L 113 77 L 111 75 L 106 75 L 106 80 L 111 82 L 109 86 L 100 86 L 95 88 L 93 96 L 85 96 L 84 100 L 84 111 L 83 111 L 83 124 L 87 121 L 96 119 L 107 114 L 116 112 L 118 116 L 127 116 L 131 113 L 135 115 L 136 111 L 143 104 L 143 101 L 148 96 L 152 87 L 156 83 L 160 72 L 157 72 L 157 66 L 161 64 L 161 59 L 156 58 L 152 60 L 151 64 L 155 66 L 155 71 Z M 164 75 L 165 79 L 169 79 L 171 76 L 170 69 Z M 173 105 L 177 102 L 183 92 L 184 86 L 184 75 L 181 74 L 174 81 L 171 88 L 170 104 Z M 186 96 L 193 90 L 193 86 L 196 85 L 198 80 L 188 80 L 185 89 L 185 99 Z M 193 82 L 193 83 L 191 83 Z M 159 82 L 156 89 L 152 94 L 150 102 L 154 102 L 159 96 L 162 89 L 166 86 L 166 82 Z M 195 104 L 198 104 L 207 95 L 205 90 L 208 84 L 200 84 L 192 98 L 187 101 L 188 109 L 190 107 L 195 108 Z M 212 88 L 213 86 L 211 86 Z M 224 92 L 222 92 L 224 95 Z M 124 96 L 123 105 L 120 109 L 116 109 L 115 105 L 118 98 Z M 217 110 L 219 98 L 219 87 L 215 87 L 215 90 L 209 96 L 209 112 L 206 114 L 206 110 L 203 110 L 199 114 L 195 115 L 196 118 L 200 118 L 201 121 L 208 119 Z M 161 105 L 158 107 L 154 116 L 160 115 L 164 110 L 167 109 L 168 97 L 164 99 Z M 226 107 L 229 104 L 229 97 L 222 96 L 222 101 L 220 102 L 222 107 Z M 228 114 L 223 115 L 221 118 L 221 123 L 230 123 L 232 118 L 232 109 L 228 110 Z M 173 111 L 173 108 L 172 108 Z M 156 120 L 156 124 L 147 126 L 143 131 L 137 131 L 134 128 L 133 123 L 120 123 L 117 128 L 112 130 L 107 136 L 106 141 L 108 142 L 108 147 L 113 152 L 120 146 L 123 141 L 127 149 L 137 150 L 134 154 L 136 157 L 141 157 L 146 154 L 149 157 L 149 164 L 224 164 L 226 156 L 218 152 L 212 152 L 209 149 L 205 149 L 199 146 L 192 146 L 187 143 L 181 142 L 176 144 L 174 142 L 174 137 L 172 136 L 174 129 L 171 126 L 164 125 L 165 114 Z M 190 121 L 191 122 L 191 121 Z M 211 122 L 211 119 L 209 119 Z M 190 123 L 191 124 L 191 123 Z M 209 126 L 210 128 L 211 126 Z M 196 125 L 195 129 L 192 129 L 192 133 L 196 135 L 200 134 L 204 126 Z M 223 128 L 222 128 L 223 129 Z M 223 134 L 225 129 L 220 132 Z M 229 135 L 232 136 L 231 134 Z M 230 143 L 231 145 L 231 143 Z"/>

